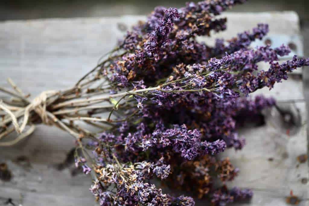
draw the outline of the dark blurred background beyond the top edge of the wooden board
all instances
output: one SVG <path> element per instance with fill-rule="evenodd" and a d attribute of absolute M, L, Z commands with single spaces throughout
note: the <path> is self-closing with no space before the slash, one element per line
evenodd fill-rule
<path fill-rule="evenodd" d="M 146 15 L 155 6 L 182 7 L 188 0 L 2 0 L 0 21 L 16 19 L 74 18 Z M 193 0 L 198 2 L 198 0 Z M 296 11 L 309 54 L 309 0 L 248 0 L 232 12 Z"/>

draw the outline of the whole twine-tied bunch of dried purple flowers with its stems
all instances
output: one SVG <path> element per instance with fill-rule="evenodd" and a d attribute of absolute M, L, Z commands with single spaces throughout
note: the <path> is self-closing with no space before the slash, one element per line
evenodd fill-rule
<path fill-rule="evenodd" d="M 218 39 L 213 47 L 196 40 L 224 30 L 226 19 L 216 16 L 243 2 L 157 7 L 74 87 L 43 92 L 33 102 L 18 89 L 2 89 L 19 101 L 0 104 L 8 113 L 2 115 L 0 136 L 14 130 L 21 135 L 0 145 L 23 139 L 38 122 L 68 131 L 77 140 L 76 165 L 92 175 L 90 190 L 104 206 L 194 205 L 191 197 L 163 194 L 153 179 L 191 190 L 213 205 L 250 199 L 249 189 L 215 186 L 239 172 L 229 158 L 219 160 L 216 154 L 245 145 L 236 131 L 240 116 L 259 115 L 276 104 L 272 98 L 245 96 L 273 88 L 288 72 L 308 66 L 309 59 L 295 56 L 279 64 L 288 47 L 250 48 L 267 34 L 267 24 L 231 40 Z M 259 62 L 270 67 L 258 71 Z M 26 125 L 32 127 L 23 133 Z"/>

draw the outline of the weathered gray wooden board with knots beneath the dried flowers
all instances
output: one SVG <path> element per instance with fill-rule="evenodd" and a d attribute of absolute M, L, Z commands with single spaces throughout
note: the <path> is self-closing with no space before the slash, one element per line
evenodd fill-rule
<path fill-rule="evenodd" d="M 238 32 L 248 30 L 257 23 L 270 25 L 269 38 L 276 45 L 276 36 L 283 43 L 292 41 L 297 46 L 295 54 L 302 55 L 299 19 L 294 12 L 225 13 L 228 29 L 216 37 L 229 39 Z M 25 93 L 32 97 L 44 90 L 63 89 L 73 85 L 78 78 L 93 68 L 102 54 L 111 50 L 118 39 L 144 16 L 113 18 L 40 19 L 6 21 L 0 23 L 0 85 L 8 87 L 5 79 L 13 79 Z M 203 38 L 213 44 L 214 38 Z M 258 42 L 256 44 L 263 44 Z M 267 66 L 267 65 L 261 65 Z M 298 73 L 301 71 L 298 71 Z M 279 101 L 303 99 L 303 82 L 290 78 L 277 84 L 267 96 Z M 0 94 L 1 97 L 1 94 Z M 290 105 L 293 107 L 293 105 Z M 302 123 L 306 121 L 304 102 L 296 104 Z M 278 126 L 274 111 L 267 115 L 267 124 L 240 131 L 247 139 L 242 151 L 226 151 L 231 161 L 240 168 L 240 174 L 230 184 L 255 188 L 248 205 L 286 205 L 285 196 L 290 190 L 308 198 L 308 165 L 300 164 L 296 157 L 307 152 L 307 131 L 301 127 L 295 135 L 286 135 L 286 128 Z M 68 168 L 56 170 L 54 165 L 66 158 L 74 146 L 74 139 L 57 128 L 38 126 L 34 134 L 11 148 L 0 148 L 0 161 L 5 161 L 13 172 L 10 182 L 0 182 L 0 197 L 13 198 L 20 194 L 23 205 L 95 205 L 88 191 L 90 178 L 82 174 L 72 177 Z M 283 157 L 283 154 L 288 154 Z M 14 160 L 25 155 L 32 167 L 21 167 Z M 268 161 L 269 158 L 273 161 Z M 263 189 L 268 189 L 264 191 Z M 0 203 L 1 203 L 0 199 Z M 198 205 L 205 205 L 198 201 Z M 300 205 L 309 205 L 302 201 Z"/>

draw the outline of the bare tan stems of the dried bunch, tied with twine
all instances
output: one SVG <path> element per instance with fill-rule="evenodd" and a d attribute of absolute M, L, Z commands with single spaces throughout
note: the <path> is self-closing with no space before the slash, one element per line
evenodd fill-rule
<path fill-rule="evenodd" d="M 81 138 L 93 139 L 97 134 L 88 131 L 86 125 L 105 131 L 115 127 L 116 122 L 133 117 L 135 113 L 126 113 L 127 110 L 136 108 L 133 95 L 159 90 L 160 86 L 110 94 L 112 87 L 109 79 L 100 74 L 113 57 L 118 55 L 110 56 L 98 64 L 72 88 L 44 91 L 33 101 L 29 100 L 31 95 L 25 95 L 21 88 L 8 78 L 7 81 L 13 90 L 0 87 L 0 91 L 7 95 L 0 102 L 0 139 L 5 139 L 14 131 L 16 137 L 0 142 L 0 146 L 18 143 L 29 136 L 35 130 L 35 125 L 40 123 L 59 127 L 80 142 Z M 113 120 L 113 116 L 124 118 Z M 26 129 L 26 125 L 30 128 Z"/>

